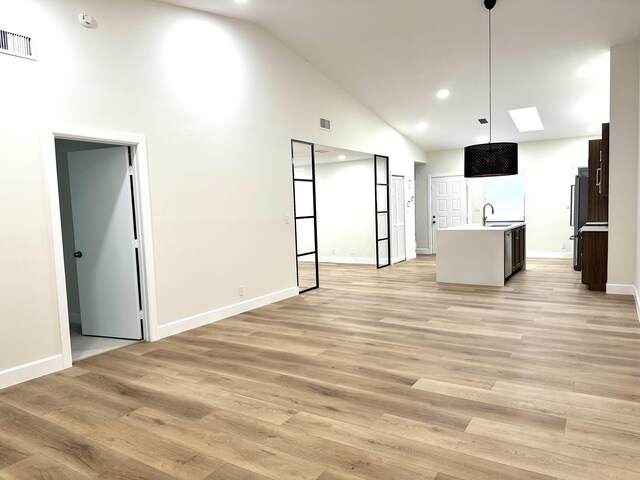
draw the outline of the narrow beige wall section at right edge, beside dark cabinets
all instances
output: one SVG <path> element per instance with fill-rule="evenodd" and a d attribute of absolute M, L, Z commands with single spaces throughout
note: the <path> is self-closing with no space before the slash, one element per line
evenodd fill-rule
<path fill-rule="evenodd" d="M 611 49 L 607 291 L 633 293 L 638 196 L 638 40 Z"/>

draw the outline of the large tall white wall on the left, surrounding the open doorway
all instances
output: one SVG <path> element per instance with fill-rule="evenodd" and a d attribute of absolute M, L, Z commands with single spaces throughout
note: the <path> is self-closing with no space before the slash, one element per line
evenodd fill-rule
<path fill-rule="evenodd" d="M 297 291 L 291 138 L 388 155 L 408 178 L 426 160 L 257 26 L 149 0 L 0 11 L 38 48 L 37 62 L 0 55 L 0 371 L 61 352 L 41 140 L 53 125 L 146 137 L 160 335 Z"/>

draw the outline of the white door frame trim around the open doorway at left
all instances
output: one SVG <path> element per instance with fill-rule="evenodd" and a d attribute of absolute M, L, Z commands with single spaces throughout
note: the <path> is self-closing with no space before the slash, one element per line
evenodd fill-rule
<path fill-rule="evenodd" d="M 158 311 L 156 299 L 155 268 L 153 263 L 153 236 L 151 228 L 151 200 L 146 138 L 143 135 L 99 130 L 75 125 L 60 125 L 47 129 L 43 134 L 44 170 L 49 192 L 51 232 L 55 282 L 58 300 L 58 320 L 63 368 L 72 366 L 69 312 L 67 310 L 67 282 L 62 246 L 62 224 L 56 165 L 56 140 L 106 143 L 131 147 L 133 151 L 133 201 L 136 211 L 136 228 L 140 245 L 140 293 L 142 295 L 143 339 L 157 340 Z"/>

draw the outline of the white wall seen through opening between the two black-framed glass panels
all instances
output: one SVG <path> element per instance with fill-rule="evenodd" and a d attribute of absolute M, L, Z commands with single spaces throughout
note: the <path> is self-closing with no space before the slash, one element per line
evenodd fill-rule
<path fill-rule="evenodd" d="M 316 165 L 320 261 L 376 262 L 373 157 Z"/>

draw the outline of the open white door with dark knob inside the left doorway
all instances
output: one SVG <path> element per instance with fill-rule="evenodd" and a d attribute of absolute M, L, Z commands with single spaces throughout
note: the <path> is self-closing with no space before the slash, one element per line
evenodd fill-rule
<path fill-rule="evenodd" d="M 69 153 L 84 335 L 142 339 L 127 147 Z"/>

